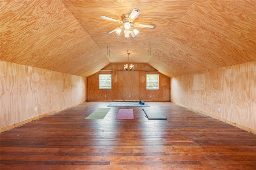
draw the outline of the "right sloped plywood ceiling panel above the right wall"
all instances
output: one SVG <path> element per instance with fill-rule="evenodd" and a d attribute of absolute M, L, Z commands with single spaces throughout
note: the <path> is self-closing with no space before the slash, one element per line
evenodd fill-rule
<path fill-rule="evenodd" d="M 255 5 L 195 1 L 148 63 L 172 77 L 255 61 Z"/>

